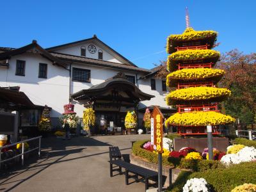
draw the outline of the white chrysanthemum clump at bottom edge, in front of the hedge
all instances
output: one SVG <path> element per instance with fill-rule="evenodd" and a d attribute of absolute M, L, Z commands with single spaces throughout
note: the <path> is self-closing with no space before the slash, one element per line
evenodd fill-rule
<path fill-rule="evenodd" d="M 207 192 L 208 187 L 207 187 L 207 182 L 204 178 L 193 178 L 193 179 L 189 179 L 187 180 L 186 184 L 183 187 L 183 192 L 199 192 L 199 191 L 203 191 L 203 192 Z"/>

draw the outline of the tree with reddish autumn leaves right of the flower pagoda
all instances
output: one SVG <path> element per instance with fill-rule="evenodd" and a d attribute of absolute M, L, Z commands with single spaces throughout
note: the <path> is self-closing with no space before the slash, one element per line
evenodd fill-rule
<path fill-rule="evenodd" d="M 243 54 L 234 49 L 223 54 L 216 67 L 226 72 L 219 86 L 232 92 L 223 102 L 226 113 L 243 123 L 253 122 L 256 113 L 256 53 Z"/>

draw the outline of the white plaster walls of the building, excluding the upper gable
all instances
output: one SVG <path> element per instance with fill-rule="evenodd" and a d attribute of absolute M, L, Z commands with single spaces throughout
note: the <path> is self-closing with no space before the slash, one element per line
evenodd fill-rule
<path fill-rule="evenodd" d="M 25 76 L 15 76 L 16 60 L 26 61 Z M 26 53 L 18 56 L 13 56 L 9 60 L 10 67 L 0 67 L 0 86 L 20 86 L 20 91 L 26 93 L 29 99 L 41 106 L 47 104 L 52 108 L 51 116 L 59 117 L 63 112 L 63 105 L 68 103 L 69 97 L 69 72 L 64 68 L 52 65 L 51 61 L 39 56 L 38 54 Z M 47 63 L 47 79 L 38 78 L 39 63 Z M 125 75 L 134 76 L 136 79 L 136 72 L 127 72 L 113 68 L 97 67 L 85 64 L 72 64 L 72 67 L 86 68 L 91 70 L 91 82 L 71 83 L 71 92 L 76 93 L 83 89 L 88 89 L 93 85 L 103 83 L 106 79 L 115 76 L 118 72 L 124 72 Z M 145 74 L 138 74 L 137 78 Z M 156 90 L 151 90 L 150 78 L 145 80 L 138 80 L 138 88 L 142 92 L 156 97 L 151 100 L 145 100 L 140 103 L 139 108 L 145 106 L 166 106 L 164 101 L 164 92 L 162 92 L 162 84 L 160 79 L 156 79 Z M 75 104 L 75 111 L 79 117 L 83 116 L 83 104 L 73 101 Z M 139 118 L 143 113 L 139 114 Z"/>

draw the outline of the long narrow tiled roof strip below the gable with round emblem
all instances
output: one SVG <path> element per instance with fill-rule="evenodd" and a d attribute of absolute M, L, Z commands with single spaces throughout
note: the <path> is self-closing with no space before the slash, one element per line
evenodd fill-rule
<path fill-rule="evenodd" d="M 151 72 L 151 70 L 148 70 L 146 68 L 134 67 L 131 65 L 125 65 L 125 64 L 121 64 L 121 63 L 114 63 L 114 62 L 103 61 L 103 60 L 95 60 L 92 58 L 85 58 L 82 56 L 74 56 L 74 55 L 63 54 L 63 53 L 58 53 L 58 52 L 52 52 L 51 54 L 52 54 L 52 56 L 55 56 L 56 58 L 59 58 L 61 60 L 66 60 L 66 61 L 76 61 L 79 63 L 86 63 L 89 65 L 97 65 L 97 66 L 102 66 L 102 67 L 118 68 L 118 69 L 122 69 L 122 70 L 132 70 L 132 71 L 145 72 L 145 73 Z"/>

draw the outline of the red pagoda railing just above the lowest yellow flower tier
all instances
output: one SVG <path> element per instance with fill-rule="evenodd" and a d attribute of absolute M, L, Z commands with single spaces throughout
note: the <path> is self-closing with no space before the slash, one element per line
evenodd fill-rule
<path fill-rule="evenodd" d="M 193 105 L 193 106 L 188 106 L 188 105 L 179 105 L 178 107 L 178 112 L 179 113 L 187 113 L 191 111 L 216 111 L 220 112 L 218 110 L 218 105 L 217 104 L 202 104 L 202 105 Z"/>

